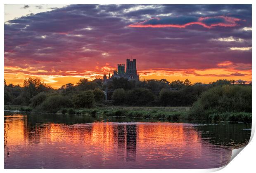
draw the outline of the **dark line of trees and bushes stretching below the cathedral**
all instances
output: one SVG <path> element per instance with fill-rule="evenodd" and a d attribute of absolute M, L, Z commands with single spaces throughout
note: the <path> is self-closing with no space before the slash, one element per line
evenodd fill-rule
<path fill-rule="evenodd" d="M 23 85 L 6 84 L 5 105 L 30 106 L 36 111 L 57 112 L 61 108 L 91 108 L 104 105 L 123 106 L 191 106 L 199 96 L 212 87 L 232 85 L 232 80 L 217 80 L 209 85 L 185 81 L 148 79 L 143 81 L 114 78 L 80 79 L 76 84 L 65 84 L 52 89 L 38 78 L 26 78 Z M 244 85 L 244 84 L 242 84 Z M 111 102 L 105 101 L 104 91 Z"/>

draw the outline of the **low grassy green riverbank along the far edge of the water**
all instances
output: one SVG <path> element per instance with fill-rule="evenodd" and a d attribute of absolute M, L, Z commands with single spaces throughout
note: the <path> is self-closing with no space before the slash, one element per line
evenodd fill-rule
<path fill-rule="evenodd" d="M 62 108 L 57 114 L 77 114 L 89 116 L 105 117 L 134 117 L 146 119 L 167 119 L 177 121 L 178 119 L 204 119 L 209 121 L 237 121 L 251 122 L 250 112 L 211 112 L 204 117 L 194 117 L 190 115 L 191 107 L 123 107 L 108 106 L 95 108 Z M 36 112 L 28 106 L 5 105 L 5 110 L 19 110 L 21 112 Z"/>

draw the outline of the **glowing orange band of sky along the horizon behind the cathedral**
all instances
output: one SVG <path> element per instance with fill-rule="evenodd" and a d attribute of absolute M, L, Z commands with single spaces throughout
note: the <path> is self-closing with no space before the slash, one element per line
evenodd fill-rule
<path fill-rule="evenodd" d="M 20 70 L 21 72 L 10 72 L 12 69 L 14 71 Z M 104 69 L 111 69 L 108 67 L 104 67 Z M 66 83 L 73 83 L 79 81 L 81 78 L 87 78 L 89 80 L 95 78 L 103 78 L 103 73 L 101 71 L 90 72 L 90 75 L 81 75 L 77 72 L 72 72 L 71 75 L 36 75 L 36 74 L 28 74 L 25 70 L 28 69 L 15 69 L 10 67 L 5 67 L 5 79 L 7 84 L 23 84 L 23 81 L 26 77 L 38 77 L 42 79 L 45 83 L 52 86 L 52 88 L 59 88 L 60 86 Z M 24 70 L 24 71 L 23 71 Z M 29 71 L 29 73 L 37 73 L 38 71 Z M 216 68 L 216 69 L 206 69 L 206 70 L 195 70 L 195 69 L 187 69 L 187 70 L 171 70 L 171 69 L 154 69 L 154 70 L 143 70 L 139 71 L 139 75 L 141 79 L 167 79 L 168 81 L 173 80 L 185 80 L 190 79 L 192 83 L 202 82 L 205 84 L 209 84 L 209 82 L 216 81 L 218 79 L 242 79 L 246 81 L 251 81 L 251 70 L 234 70 L 232 68 Z M 69 72 L 71 73 L 71 72 Z M 244 74 L 243 76 L 239 76 L 237 74 Z M 111 73 L 112 74 L 112 73 Z M 231 75 L 234 74 L 234 75 Z"/>

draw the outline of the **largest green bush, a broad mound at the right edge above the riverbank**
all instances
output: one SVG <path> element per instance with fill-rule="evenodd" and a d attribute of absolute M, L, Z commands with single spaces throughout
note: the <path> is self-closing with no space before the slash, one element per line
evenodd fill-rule
<path fill-rule="evenodd" d="M 207 118 L 210 114 L 223 112 L 251 112 L 251 86 L 213 86 L 201 94 L 189 115 Z"/>

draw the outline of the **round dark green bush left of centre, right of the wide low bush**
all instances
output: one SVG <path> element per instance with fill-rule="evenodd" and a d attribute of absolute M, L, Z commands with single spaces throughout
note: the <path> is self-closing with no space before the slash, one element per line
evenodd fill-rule
<path fill-rule="evenodd" d="M 91 108 L 94 103 L 94 94 L 92 90 L 83 91 L 73 96 L 73 103 L 76 108 Z"/>

